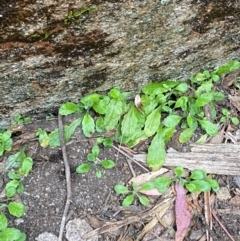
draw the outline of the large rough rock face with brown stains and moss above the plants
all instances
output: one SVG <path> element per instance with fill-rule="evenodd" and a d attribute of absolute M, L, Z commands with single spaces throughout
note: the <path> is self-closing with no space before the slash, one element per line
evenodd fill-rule
<path fill-rule="evenodd" d="M 1 1 L 0 129 L 88 92 L 239 60 L 239 31 L 239 1 Z"/>

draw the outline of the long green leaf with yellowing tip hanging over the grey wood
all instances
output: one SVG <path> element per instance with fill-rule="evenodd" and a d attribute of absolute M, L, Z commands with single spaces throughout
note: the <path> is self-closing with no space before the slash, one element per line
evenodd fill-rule
<path fill-rule="evenodd" d="M 160 169 L 165 161 L 165 142 L 159 128 L 148 148 L 147 165 L 152 171 Z"/>

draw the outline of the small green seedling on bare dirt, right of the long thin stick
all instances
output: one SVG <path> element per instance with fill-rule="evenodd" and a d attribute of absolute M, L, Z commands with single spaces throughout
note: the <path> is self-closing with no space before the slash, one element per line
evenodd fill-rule
<path fill-rule="evenodd" d="M 96 177 L 102 177 L 102 171 L 98 168 L 101 166 L 103 169 L 112 169 L 115 166 L 113 160 L 100 160 L 98 155 L 100 153 L 99 145 L 103 144 L 105 147 L 111 147 L 113 142 L 110 138 L 99 137 L 97 138 L 97 143 L 92 147 L 92 150 L 87 155 L 88 163 L 83 163 L 79 165 L 76 172 L 79 174 L 85 174 L 90 171 L 91 167 L 94 165 L 97 167 Z"/>

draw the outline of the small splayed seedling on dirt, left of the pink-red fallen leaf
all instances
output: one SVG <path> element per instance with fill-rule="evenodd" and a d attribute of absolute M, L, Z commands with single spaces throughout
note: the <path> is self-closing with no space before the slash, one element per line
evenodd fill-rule
<path fill-rule="evenodd" d="M 127 196 L 123 199 L 123 202 L 122 202 L 123 207 L 130 206 L 133 203 L 134 198 L 137 198 L 139 202 L 144 206 L 147 206 L 149 204 L 149 199 L 146 196 L 138 193 L 136 183 L 132 184 L 131 190 L 129 190 L 127 187 L 120 184 L 115 185 L 114 190 L 118 194 L 127 194 Z"/>

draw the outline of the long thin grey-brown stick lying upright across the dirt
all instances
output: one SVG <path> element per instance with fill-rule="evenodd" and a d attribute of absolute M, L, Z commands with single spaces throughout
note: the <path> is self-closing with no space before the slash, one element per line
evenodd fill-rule
<path fill-rule="evenodd" d="M 58 127 L 59 127 L 59 136 L 60 136 L 60 142 L 61 142 L 61 148 L 62 148 L 63 162 L 65 166 L 65 178 L 66 178 L 66 185 L 67 185 L 67 200 L 66 200 L 64 212 L 62 215 L 60 231 L 58 236 L 58 241 L 62 241 L 67 214 L 68 214 L 68 210 L 71 202 L 72 191 L 71 191 L 70 167 L 68 163 L 66 145 L 64 142 L 62 116 L 60 114 L 58 114 Z"/>

